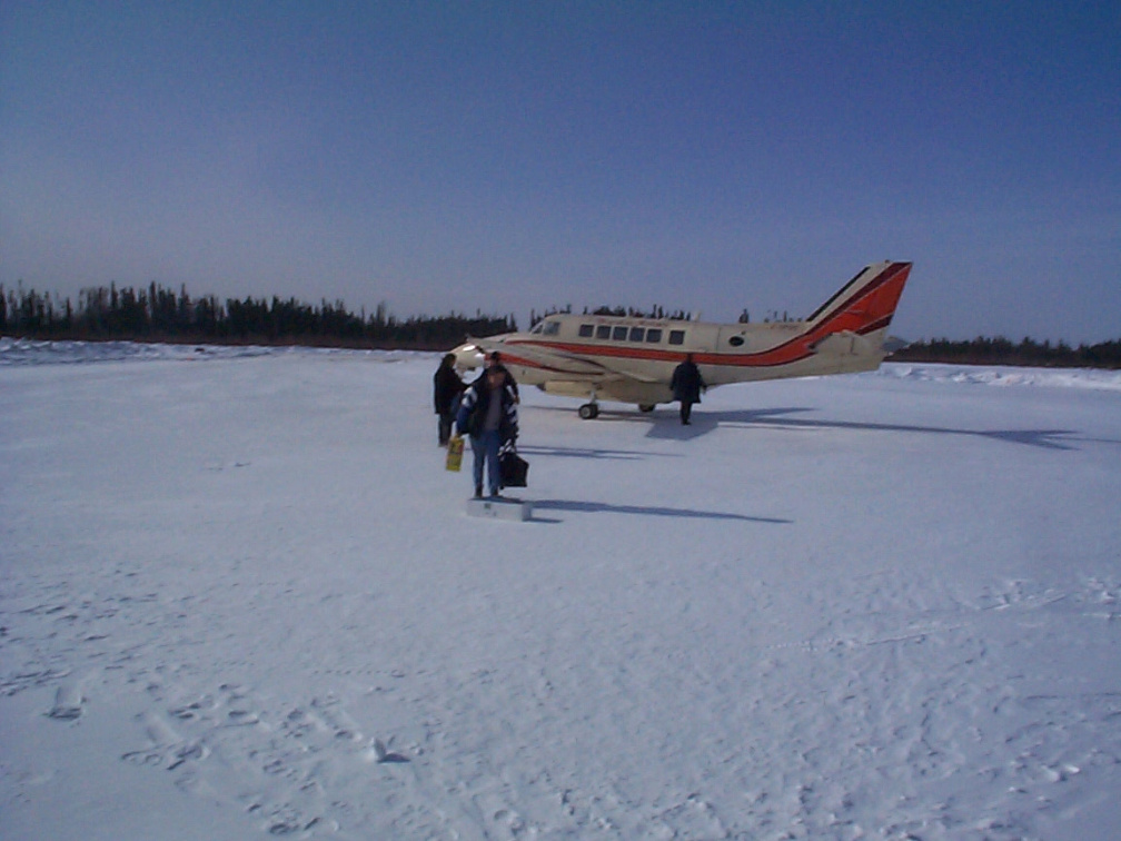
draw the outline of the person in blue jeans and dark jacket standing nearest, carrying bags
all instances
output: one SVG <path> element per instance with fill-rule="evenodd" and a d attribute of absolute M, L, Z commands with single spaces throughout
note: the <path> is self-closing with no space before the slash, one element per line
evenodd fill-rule
<path fill-rule="evenodd" d="M 498 451 L 507 441 L 518 437 L 517 398 L 503 366 L 491 366 L 463 392 L 455 427 L 461 434 L 471 436 L 475 497 L 483 495 L 484 465 L 490 495 L 499 496 L 502 471 L 498 464 Z"/>

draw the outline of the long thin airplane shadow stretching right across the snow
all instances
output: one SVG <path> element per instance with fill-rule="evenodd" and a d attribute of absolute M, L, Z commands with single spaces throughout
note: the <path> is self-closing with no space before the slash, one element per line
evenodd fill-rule
<path fill-rule="evenodd" d="M 769 426 L 788 429 L 861 429 L 865 432 L 907 432 L 920 435 L 967 435 L 981 438 L 1026 444 L 1043 450 L 1077 450 L 1077 435 L 1072 429 L 961 429 L 948 426 L 920 426 L 917 424 L 877 424 L 850 420 L 828 420 L 791 417 L 813 412 L 806 407 L 743 409 L 734 412 L 693 412 L 692 424 L 682 426 L 674 417 L 656 417 L 647 437 L 689 441 L 707 435 L 720 426 Z"/>

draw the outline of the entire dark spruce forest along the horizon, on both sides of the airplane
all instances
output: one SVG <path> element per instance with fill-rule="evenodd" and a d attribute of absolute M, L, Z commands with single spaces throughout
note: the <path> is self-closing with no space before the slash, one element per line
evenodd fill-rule
<path fill-rule="evenodd" d="M 548 309 L 545 314 L 557 312 Z M 585 311 L 587 312 L 587 311 Z M 622 307 L 600 307 L 596 314 L 687 318 L 686 313 L 649 314 Z M 543 314 L 534 313 L 530 322 Z M 115 284 L 83 289 L 77 306 L 35 289 L 0 286 L 0 335 L 35 340 L 138 341 L 215 344 L 306 344 L 340 348 L 447 350 L 465 336 L 488 336 L 517 330 L 513 315 L 411 316 L 398 318 L 379 304 L 373 313 L 350 312 L 342 301 L 311 305 L 296 298 L 194 298 L 158 284 L 135 289 Z M 933 339 L 912 342 L 889 359 L 898 362 L 1007 364 L 1060 368 L 1121 368 L 1121 341 L 1051 344 L 1025 338 L 998 336 L 970 341 Z"/>

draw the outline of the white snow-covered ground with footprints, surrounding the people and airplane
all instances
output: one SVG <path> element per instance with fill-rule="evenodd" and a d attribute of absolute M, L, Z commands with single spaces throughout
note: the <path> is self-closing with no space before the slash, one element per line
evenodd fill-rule
<path fill-rule="evenodd" d="M 0 837 L 1115 838 L 1121 376 L 525 389 L 513 524 L 437 361 L 0 341 Z"/>

